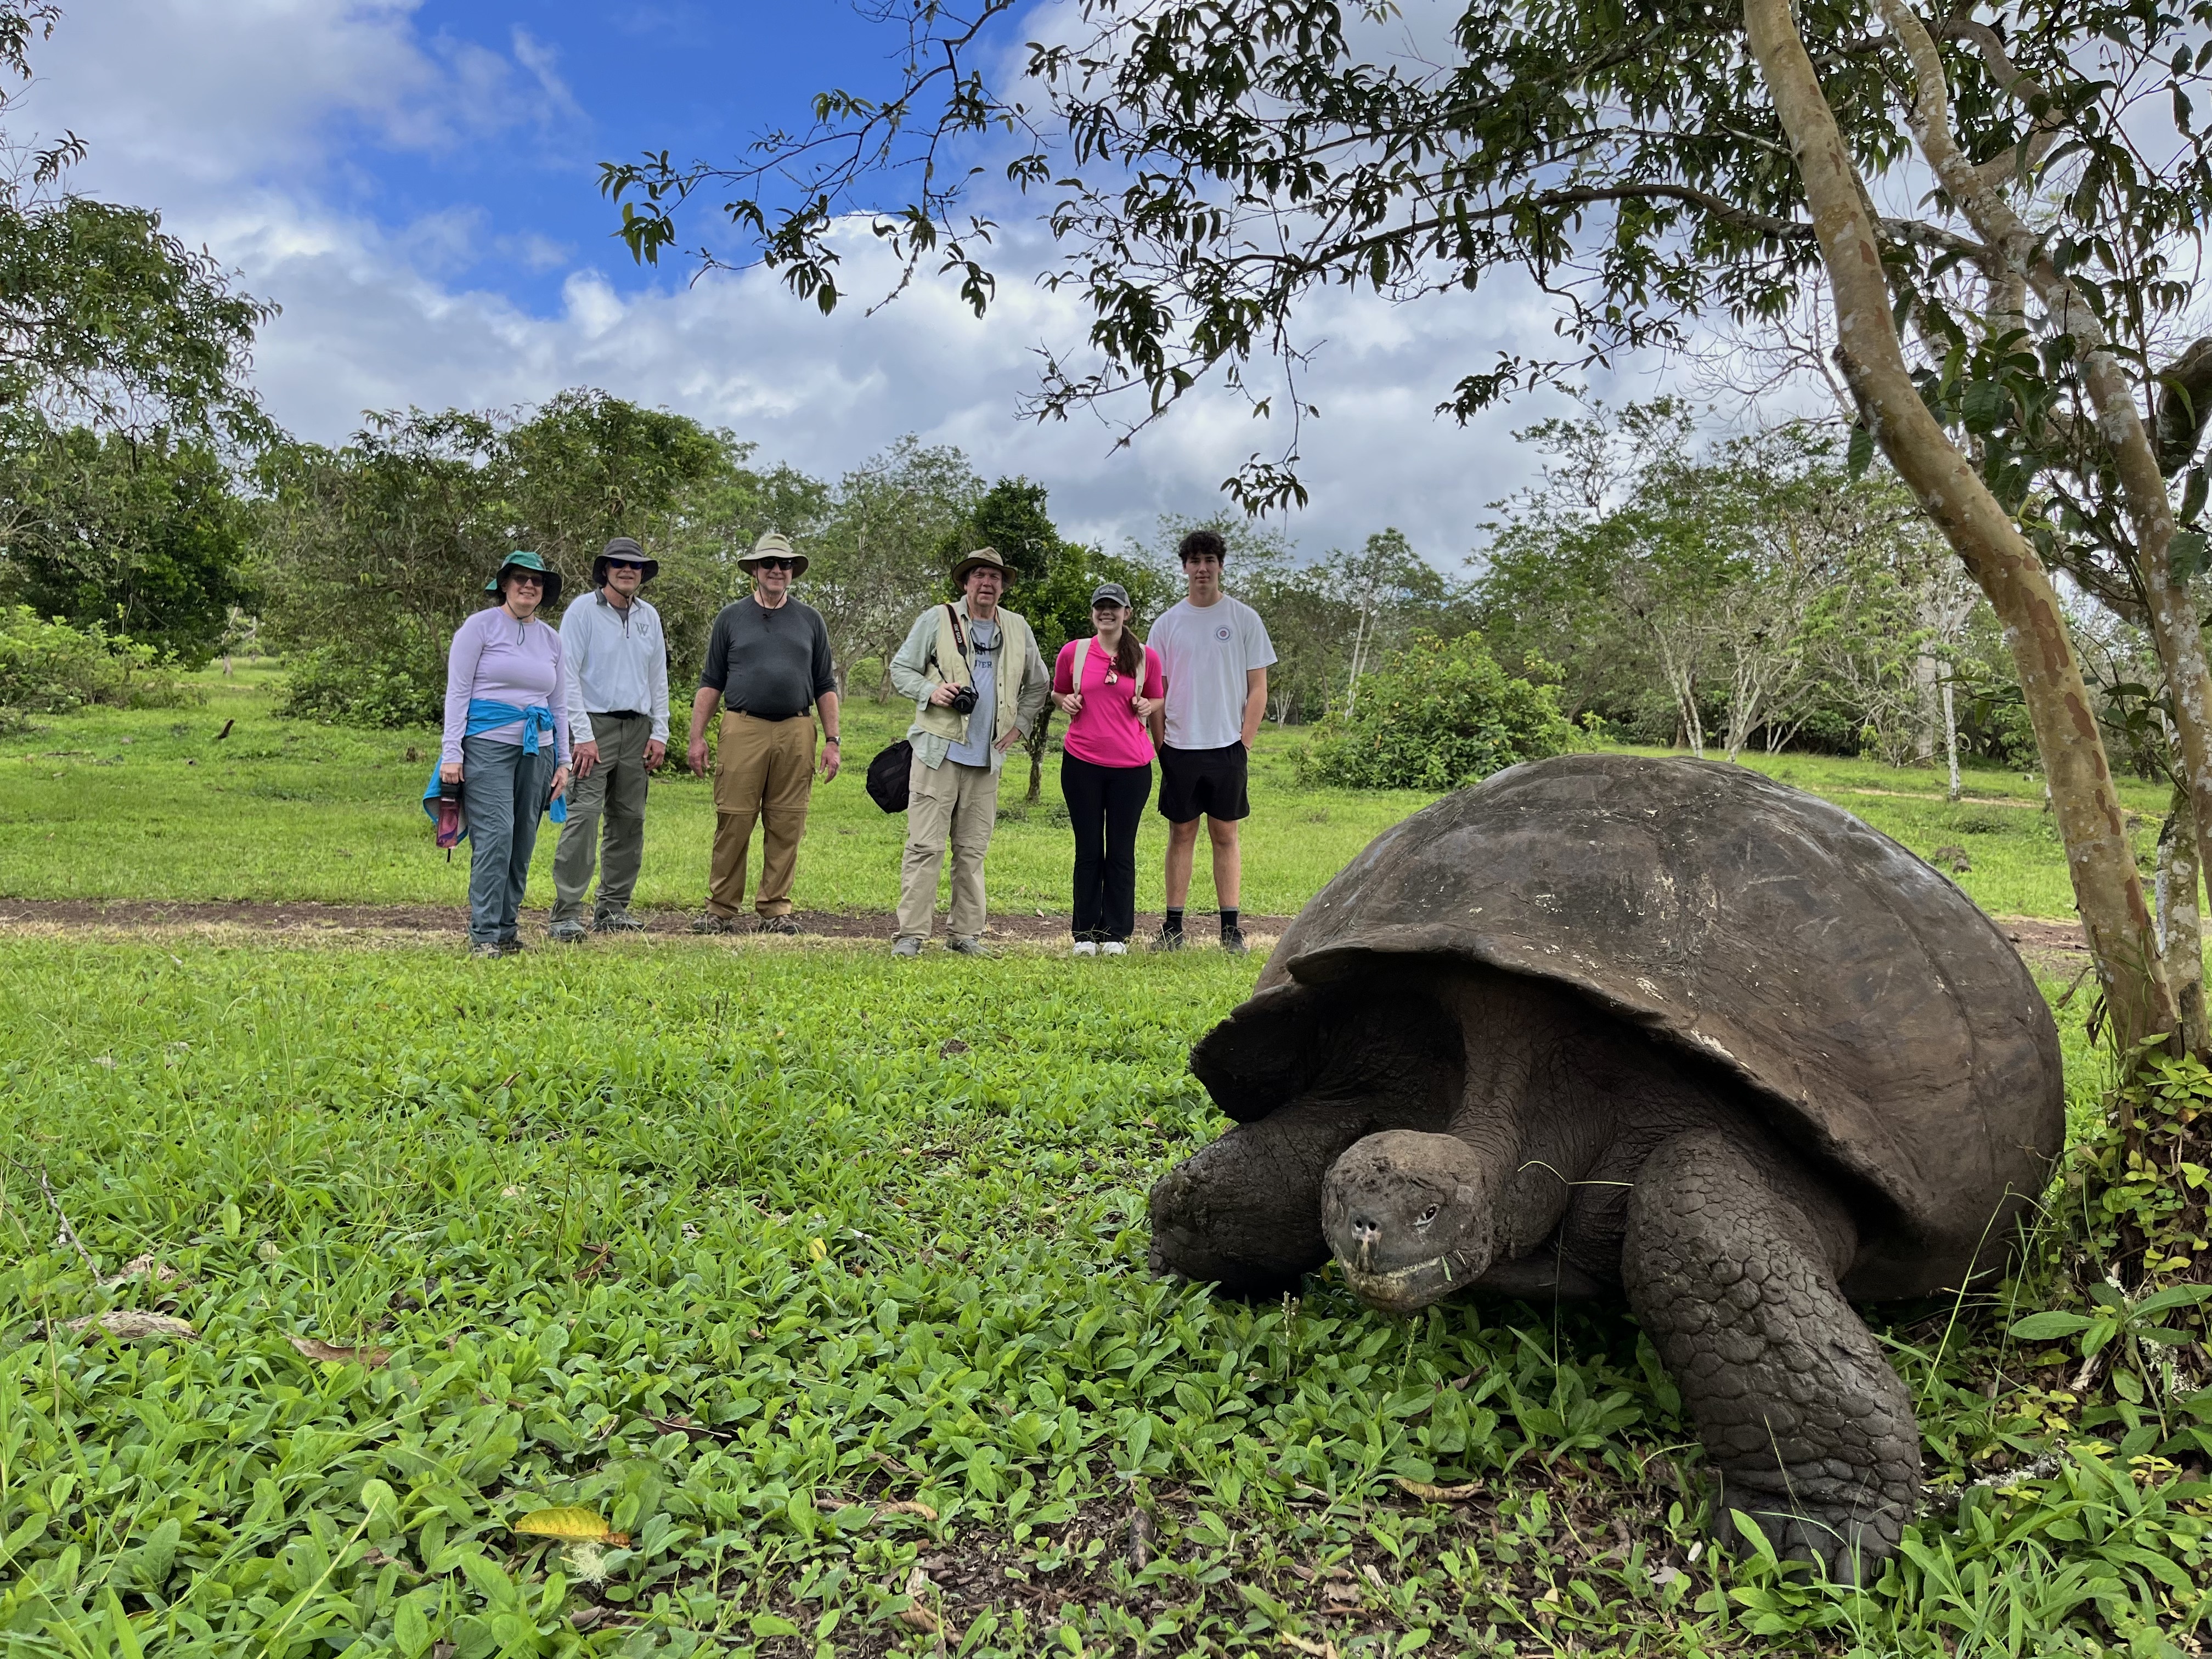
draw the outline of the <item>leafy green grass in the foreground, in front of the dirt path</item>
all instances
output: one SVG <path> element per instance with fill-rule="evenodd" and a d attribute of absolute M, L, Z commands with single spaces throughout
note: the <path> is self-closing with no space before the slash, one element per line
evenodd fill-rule
<path fill-rule="evenodd" d="M 2205 1489 L 2128 1458 L 2203 1429 L 2086 1416 L 1993 1310 L 1885 1310 L 1929 1467 L 2055 1467 L 1843 1595 L 1701 1548 L 1626 1316 L 1155 1283 L 1254 971 L 0 945 L 0 1650 L 2194 1650 Z M 100 1287 L 40 1172 L 188 1283 Z M 133 1305 L 199 1340 L 60 1329 Z M 511 1533 L 571 1504 L 628 1544 Z"/>

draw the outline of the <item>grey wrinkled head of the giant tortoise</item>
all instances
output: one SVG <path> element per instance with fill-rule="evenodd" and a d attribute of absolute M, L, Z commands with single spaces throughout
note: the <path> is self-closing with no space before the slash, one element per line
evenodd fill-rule
<path fill-rule="evenodd" d="M 1455 1135 L 1354 1141 L 1321 1183 L 1321 1230 L 1369 1307 L 1411 1314 L 1480 1279 L 1495 1250 L 1489 1179 Z"/>

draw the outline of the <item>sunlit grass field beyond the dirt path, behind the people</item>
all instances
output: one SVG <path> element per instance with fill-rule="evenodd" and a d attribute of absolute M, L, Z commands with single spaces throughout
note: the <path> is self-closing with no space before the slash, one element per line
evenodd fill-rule
<path fill-rule="evenodd" d="M 232 681 L 201 675 L 204 708 L 42 717 L 0 737 L 0 896 L 148 900 L 321 900 L 332 905 L 458 905 L 467 860 L 447 863 L 429 841 L 418 796 L 436 759 L 434 732 L 354 732 L 274 717 L 272 670 Z M 232 721 L 230 737 L 217 732 Z M 852 770 L 814 792 L 796 902 L 823 911 L 887 911 L 898 900 L 905 818 L 885 816 L 860 787 L 878 748 L 905 732 L 907 710 L 852 701 L 845 714 Z M 1422 794 L 1301 790 L 1292 759 L 1298 730 L 1270 728 L 1254 757 L 1254 816 L 1245 825 L 1243 907 L 1285 916 L 1376 832 L 1425 805 Z M 416 759 L 407 759 L 409 752 Z M 1787 783 L 1823 794 L 1929 854 L 1962 847 L 1960 885 L 1997 916 L 2068 916 L 2073 896 L 2042 783 L 2017 772 L 1969 774 L 1960 805 L 1942 801 L 1942 776 L 1860 761 L 1747 757 Z M 1020 761 L 1015 763 L 1020 765 Z M 1000 823 L 991 845 L 998 914 L 1066 914 L 1071 841 L 1060 807 L 1057 757 L 1035 807 Z M 1026 776 L 1015 774 L 1009 805 Z M 2148 858 L 2163 812 L 2157 787 L 2128 781 L 2143 814 Z M 2002 805 L 1993 805 L 2002 803 Z M 714 807 L 710 785 L 670 776 L 653 785 L 646 867 L 637 902 L 697 907 Z M 553 896 L 553 841 L 542 834 L 531 905 Z M 1164 825 L 1148 812 L 1137 849 L 1137 902 L 1161 902 Z M 759 852 L 754 852 L 754 865 Z M 1192 907 L 1212 900 L 1206 860 Z"/>

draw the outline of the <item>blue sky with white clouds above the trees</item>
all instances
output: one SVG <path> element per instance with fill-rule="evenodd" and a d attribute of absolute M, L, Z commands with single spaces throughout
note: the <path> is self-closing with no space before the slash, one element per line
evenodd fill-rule
<path fill-rule="evenodd" d="M 1037 0 L 1000 49 L 1066 4 Z M 602 159 L 739 157 L 763 128 L 803 126 L 825 86 L 883 86 L 900 44 L 845 0 L 75 0 L 18 131 L 73 128 L 91 144 L 77 188 L 159 208 L 283 307 L 257 378 L 307 438 L 343 440 L 365 409 L 597 385 L 827 478 L 907 431 L 956 442 L 984 476 L 1044 482 L 1073 535 L 1214 511 L 1221 480 L 1281 440 L 1232 396 L 1188 398 L 1128 449 L 1097 422 L 1015 418 L 1037 352 L 1079 349 L 1088 321 L 1033 281 L 1048 248 L 1020 215 L 1002 215 L 1002 299 L 982 323 L 933 283 L 821 319 L 765 272 L 692 283 L 611 237 Z M 894 283 L 865 230 L 845 252 L 858 301 Z M 1396 524 L 1455 568 L 1484 504 L 1531 473 L 1511 429 L 1548 409 L 1460 429 L 1433 407 L 1500 347 L 1546 347 L 1546 303 L 1511 285 L 1411 307 L 1338 292 L 1305 323 L 1323 416 L 1290 535 L 1321 553 Z"/>

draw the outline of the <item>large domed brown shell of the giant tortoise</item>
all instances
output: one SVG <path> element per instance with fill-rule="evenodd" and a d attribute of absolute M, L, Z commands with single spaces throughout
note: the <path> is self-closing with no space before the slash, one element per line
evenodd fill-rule
<path fill-rule="evenodd" d="M 1858 1188 L 1845 1292 L 1955 1285 L 2064 1144 L 2057 1029 L 2004 933 L 1840 807 L 1712 761 L 1515 765 L 1376 836 L 1192 1071 L 1243 1121 L 1310 1073 L 1376 958 L 1531 973 L 1741 1084 Z"/>

